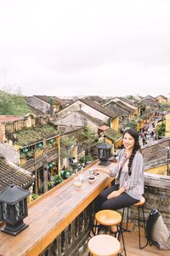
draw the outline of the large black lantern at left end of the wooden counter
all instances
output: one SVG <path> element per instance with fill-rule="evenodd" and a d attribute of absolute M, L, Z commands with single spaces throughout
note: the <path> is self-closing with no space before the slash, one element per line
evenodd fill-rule
<path fill-rule="evenodd" d="M 28 215 L 27 196 L 30 192 L 11 183 L 10 187 L 0 193 L 0 220 L 6 223 L 3 232 L 16 236 L 28 225 L 23 218 Z"/>

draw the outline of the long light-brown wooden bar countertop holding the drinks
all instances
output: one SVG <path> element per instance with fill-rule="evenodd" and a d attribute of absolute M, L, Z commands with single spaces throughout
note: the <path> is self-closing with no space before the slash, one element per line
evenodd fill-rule
<path fill-rule="evenodd" d="M 98 166 L 98 163 L 95 161 L 84 168 L 82 173 L 86 174 L 90 168 Z M 105 168 L 110 169 L 113 165 L 115 164 L 111 163 Z M 101 173 L 96 176 L 93 184 L 86 180 L 82 183 L 82 189 L 77 190 L 72 176 L 40 196 L 28 206 L 28 216 L 24 219 L 29 225 L 26 230 L 17 236 L 0 232 L 0 256 L 40 254 L 112 180 L 113 178 Z"/>

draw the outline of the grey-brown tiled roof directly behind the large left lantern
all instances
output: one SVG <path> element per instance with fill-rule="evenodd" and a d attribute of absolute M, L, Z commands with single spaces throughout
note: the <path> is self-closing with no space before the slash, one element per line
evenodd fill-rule
<path fill-rule="evenodd" d="M 8 162 L 2 156 L 0 157 L 0 191 L 8 187 L 13 181 L 15 185 L 23 189 L 31 186 L 34 179 L 29 172 Z"/>

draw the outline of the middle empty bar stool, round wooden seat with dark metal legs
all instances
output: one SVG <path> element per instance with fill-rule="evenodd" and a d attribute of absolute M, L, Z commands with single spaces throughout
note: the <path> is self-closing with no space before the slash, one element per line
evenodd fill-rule
<path fill-rule="evenodd" d="M 117 232 L 118 232 L 118 240 L 120 240 L 120 235 L 122 236 L 122 244 L 123 249 L 125 252 L 125 256 L 127 255 L 126 249 L 125 249 L 125 243 L 124 243 L 124 237 L 122 233 L 122 216 L 119 212 L 113 211 L 113 210 L 101 210 L 95 214 L 95 220 L 98 224 L 102 224 L 109 228 L 110 234 L 111 234 L 111 226 L 116 225 L 117 226 Z M 95 232 L 96 234 L 96 232 Z"/>

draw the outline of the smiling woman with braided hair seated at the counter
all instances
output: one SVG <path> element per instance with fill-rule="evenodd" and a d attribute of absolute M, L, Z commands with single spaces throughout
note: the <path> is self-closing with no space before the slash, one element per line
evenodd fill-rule
<path fill-rule="evenodd" d="M 144 194 L 144 160 L 140 152 L 138 132 L 127 129 L 123 134 L 123 145 L 115 170 L 95 169 L 95 172 L 105 172 L 111 176 L 113 172 L 117 172 L 115 184 L 99 195 L 96 201 L 97 211 L 131 206 Z"/>

